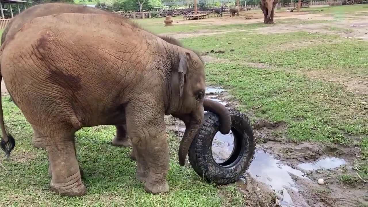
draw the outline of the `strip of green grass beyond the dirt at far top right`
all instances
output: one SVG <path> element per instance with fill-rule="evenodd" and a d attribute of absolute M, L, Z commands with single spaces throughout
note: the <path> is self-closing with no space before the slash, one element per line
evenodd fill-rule
<path fill-rule="evenodd" d="M 312 13 L 347 13 L 355 11 L 368 11 L 367 4 L 358 5 L 346 5 L 346 6 L 336 6 L 336 7 L 316 7 L 316 8 L 301 8 L 301 11 L 310 11 Z"/>

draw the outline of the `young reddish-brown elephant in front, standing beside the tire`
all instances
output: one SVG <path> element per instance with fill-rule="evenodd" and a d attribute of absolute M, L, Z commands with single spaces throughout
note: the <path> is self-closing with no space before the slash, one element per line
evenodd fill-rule
<path fill-rule="evenodd" d="M 48 152 L 50 186 L 66 196 L 86 192 L 74 146 L 74 134 L 83 127 L 125 125 L 137 159 L 136 178 L 152 193 L 169 191 L 164 115 L 185 123 L 181 166 L 204 110 L 225 120 L 221 133 L 231 129 L 227 109 L 204 98 L 198 55 L 119 17 L 34 18 L 4 42 L 0 54 L 8 92 Z M 0 121 L 7 143 L 2 113 Z"/>

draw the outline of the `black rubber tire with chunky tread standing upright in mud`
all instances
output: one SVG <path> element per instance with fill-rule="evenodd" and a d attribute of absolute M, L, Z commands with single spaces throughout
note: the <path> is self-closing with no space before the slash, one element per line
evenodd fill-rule
<path fill-rule="evenodd" d="M 236 182 L 247 171 L 256 145 L 248 117 L 238 110 L 228 110 L 234 135 L 234 148 L 230 157 L 220 164 L 212 157 L 212 141 L 219 131 L 219 117 L 212 112 L 205 113 L 201 130 L 192 141 L 188 152 L 194 171 L 208 182 L 219 185 Z"/>

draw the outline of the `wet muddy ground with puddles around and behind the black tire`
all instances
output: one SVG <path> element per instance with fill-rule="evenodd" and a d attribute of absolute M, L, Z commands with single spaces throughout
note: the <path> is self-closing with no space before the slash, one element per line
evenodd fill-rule
<path fill-rule="evenodd" d="M 223 101 L 226 97 L 230 95 L 221 88 L 206 88 L 206 98 L 226 106 L 234 106 L 233 103 Z M 171 130 L 185 130 L 184 124 L 179 120 L 174 120 L 170 126 Z M 239 189 L 252 201 L 248 206 L 358 207 L 359 202 L 365 202 L 364 192 L 368 192 L 366 187 L 342 187 L 342 183 L 337 182 L 338 175 L 353 173 L 352 159 L 357 151 L 335 145 L 275 141 L 271 132 L 285 130 L 284 122 L 258 120 L 253 127 L 258 145 L 250 168 L 238 180 Z M 212 156 L 215 161 L 219 163 L 226 160 L 233 146 L 231 132 L 226 135 L 218 132 L 212 142 Z M 319 178 L 325 180 L 324 185 L 317 183 Z M 251 195 L 254 193 L 256 196 Z"/>

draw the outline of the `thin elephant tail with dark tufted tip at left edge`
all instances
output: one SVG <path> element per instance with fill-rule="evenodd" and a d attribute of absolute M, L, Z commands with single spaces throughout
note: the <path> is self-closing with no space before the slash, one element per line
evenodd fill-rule
<path fill-rule="evenodd" d="M 3 51 L 0 52 L 0 62 L 1 62 L 2 53 Z M 1 65 L 0 65 L 0 81 L 2 78 L 3 76 L 1 75 Z M 1 84 L 0 84 L 0 91 L 1 91 Z M 0 141 L 0 147 L 1 147 L 1 150 L 5 152 L 5 157 L 8 158 L 10 156 L 10 152 L 15 147 L 15 140 L 13 136 L 6 133 L 5 124 L 4 124 L 4 115 L 3 115 L 3 104 L 1 102 L 1 99 L 2 99 L 2 96 L 0 98 L 0 128 L 1 128 L 1 133 L 3 134 L 3 137 L 1 138 L 1 141 Z"/>

